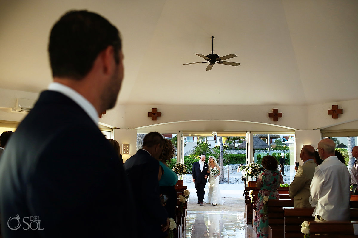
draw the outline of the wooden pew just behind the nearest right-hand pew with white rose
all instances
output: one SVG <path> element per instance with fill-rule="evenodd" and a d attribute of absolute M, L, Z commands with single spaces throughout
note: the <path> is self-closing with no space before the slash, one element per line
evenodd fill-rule
<path fill-rule="evenodd" d="M 285 238 L 302 238 L 301 224 L 304 221 L 314 221 L 314 208 L 283 207 Z"/>

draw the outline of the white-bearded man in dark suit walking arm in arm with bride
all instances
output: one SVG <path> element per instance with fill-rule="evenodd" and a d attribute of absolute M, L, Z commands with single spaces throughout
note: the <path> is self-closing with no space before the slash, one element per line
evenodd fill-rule
<path fill-rule="evenodd" d="M 204 206 L 205 185 L 208 181 L 208 164 L 205 163 L 205 155 L 201 155 L 199 161 L 193 163 L 192 181 L 197 189 L 198 204 Z"/>

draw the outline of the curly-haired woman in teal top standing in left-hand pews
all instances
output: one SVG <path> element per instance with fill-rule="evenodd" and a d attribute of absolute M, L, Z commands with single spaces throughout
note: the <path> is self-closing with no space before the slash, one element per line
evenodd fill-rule
<path fill-rule="evenodd" d="M 176 191 L 175 184 L 178 182 L 178 175 L 169 168 L 168 164 L 174 157 L 174 146 L 170 140 L 164 139 L 163 153 L 159 155 L 159 165 L 163 169 L 163 174 L 159 180 L 159 190 L 163 194 L 165 201 L 165 209 L 168 212 L 169 218 L 175 217 L 176 207 Z"/>

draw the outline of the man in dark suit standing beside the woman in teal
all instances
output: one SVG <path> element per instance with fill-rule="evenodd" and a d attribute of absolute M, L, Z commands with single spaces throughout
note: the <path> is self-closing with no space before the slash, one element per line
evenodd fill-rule
<path fill-rule="evenodd" d="M 137 205 L 137 217 L 142 218 L 136 221 L 137 226 L 150 231 L 145 234 L 147 238 L 168 236 L 165 231 L 169 227 L 169 218 L 160 203 L 158 179 L 162 173 L 158 158 L 163 146 L 163 136 L 150 132 L 144 137 L 142 149 L 124 163 Z"/>

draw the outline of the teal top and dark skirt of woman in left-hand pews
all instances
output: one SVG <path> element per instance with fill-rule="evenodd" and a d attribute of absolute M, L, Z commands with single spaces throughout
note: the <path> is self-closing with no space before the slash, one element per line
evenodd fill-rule
<path fill-rule="evenodd" d="M 159 165 L 163 168 L 163 175 L 159 180 L 159 190 L 160 193 L 168 197 L 164 208 L 168 212 L 169 218 L 175 218 L 176 191 L 174 186 L 178 181 L 178 175 L 161 161 L 159 161 Z"/>

